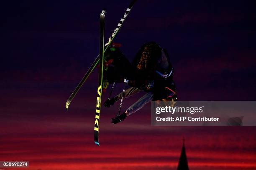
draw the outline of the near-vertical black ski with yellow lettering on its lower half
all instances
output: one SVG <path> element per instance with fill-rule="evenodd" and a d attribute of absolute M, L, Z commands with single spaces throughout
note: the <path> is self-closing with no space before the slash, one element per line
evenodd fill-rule
<path fill-rule="evenodd" d="M 97 89 L 97 102 L 96 102 L 96 115 L 94 123 L 94 142 L 96 145 L 99 143 L 99 125 L 100 125 L 100 105 L 102 96 L 102 83 L 103 83 L 103 62 L 104 62 L 104 20 L 106 10 L 102 10 L 100 14 L 100 66 L 99 66 L 99 79 Z"/>

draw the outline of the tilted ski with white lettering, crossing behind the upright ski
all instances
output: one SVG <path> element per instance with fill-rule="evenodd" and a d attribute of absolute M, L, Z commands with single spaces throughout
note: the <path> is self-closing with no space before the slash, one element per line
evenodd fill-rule
<path fill-rule="evenodd" d="M 105 44 L 104 46 L 104 52 L 108 49 L 110 43 L 113 41 L 115 35 L 117 34 L 118 30 L 121 28 L 121 26 L 123 25 L 123 22 L 125 20 L 125 18 L 127 17 L 127 15 L 130 13 L 131 8 L 133 7 L 134 3 L 136 2 L 136 0 L 133 0 L 130 5 L 128 6 L 128 8 L 125 11 L 125 14 L 123 15 L 123 17 L 121 18 L 120 22 L 118 23 L 117 28 L 115 28 L 115 30 L 113 31 L 112 35 L 109 37 L 108 42 Z M 77 92 L 79 91 L 79 89 L 82 87 L 82 85 L 84 84 L 84 82 L 87 80 L 87 78 L 89 77 L 89 75 L 92 73 L 92 71 L 95 69 L 95 67 L 99 64 L 99 59 L 100 59 L 100 54 L 97 56 L 97 58 L 94 60 L 94 62 L 92 63 L 92 65 L 90 66 L 89 70 L 86 72 L 86 74 L 84 75 L 84 77 L 82 78 L 82 80 L 79 82 L 79 84 L 77 85 L 77 87 L 75 88 L 75 90 L 72 92 L 72 94 L 69 96 L 67 102 L 66 102 L 66 110 L 68 111 L 69 109 L 69 105 L 70 102 L 74 99 L 75 95 L 77 94 Z"/>

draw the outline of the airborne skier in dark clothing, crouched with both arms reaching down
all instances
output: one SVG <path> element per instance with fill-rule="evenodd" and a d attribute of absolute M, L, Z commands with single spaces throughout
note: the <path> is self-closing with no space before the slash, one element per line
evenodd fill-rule
<path fill-rule="evenodd" d="M 147 93 L 123 114 L 112 118 L 113 124 L 123 121 L 127 116 L 138 111 L 150 101 L 177 100 L 177 90 L 173 81 L 173 67 L 164 48 L 156 42 L 147 42 L 141 46 L 131 64 L 119 47 L 120 45 L 117 46 L 113 43 L 106 53 L 107 61 L 105 65 L 108 66 L 108 70 L 105 72 L 105 82 L 107 83 L 104 84 L 107 86 L 113 82 L 123 82 L 127 78 L 128 85 L 131 87 L 106 100 L 104 106 L 110 107 L 122 97 L 126 98 L 141 91 Z"/>

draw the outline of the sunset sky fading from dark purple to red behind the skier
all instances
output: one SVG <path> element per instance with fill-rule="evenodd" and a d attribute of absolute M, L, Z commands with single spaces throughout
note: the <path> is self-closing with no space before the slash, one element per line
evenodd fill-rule
<path fill-rule="evenodd" d="M 176 169 L 184 136 L 192 170 L 255 169 L 255 127 L 152 127 L 149 104 L 118 125 L 110 124 L 118 104 L 102 108 L 96 147 L 97 70 L 64 111 L 99 53 L 102 8 L 107 39 L 128 4 L 1 2 L 0 160 L 26 159 L 31 170 Z M 114 41 L 130 61 L 145 42 L 165 47 L 179 100 L 256 100 L 255 7 L 253 0 L 139 0 Z"/>

